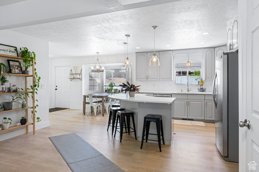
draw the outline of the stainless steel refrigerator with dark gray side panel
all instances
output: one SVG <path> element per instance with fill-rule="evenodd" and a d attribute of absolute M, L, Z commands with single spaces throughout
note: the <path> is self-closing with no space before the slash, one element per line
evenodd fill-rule
<path fill-rule="evenodd" d="M 238 162 L 238 52 L 221 53 L 215 62 L 216 145 L 226 161 Z"/>

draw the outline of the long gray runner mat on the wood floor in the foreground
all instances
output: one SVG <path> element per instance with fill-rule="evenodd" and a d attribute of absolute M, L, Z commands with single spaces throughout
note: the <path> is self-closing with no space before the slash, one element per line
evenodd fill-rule
<path fill-rule="evenodd" d="M 73 172 L 123 172 L 76 133 L 49 137 Z"/>

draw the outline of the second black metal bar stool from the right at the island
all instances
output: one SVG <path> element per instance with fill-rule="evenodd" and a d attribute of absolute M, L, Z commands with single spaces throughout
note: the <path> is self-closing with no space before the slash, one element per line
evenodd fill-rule
<path fill-rule="evenodd" d="M 125 117 L 127 118 L 128 132 L 126 130 L 126 126 L 125 126 L 126 132 L 123 132 L 123 128 L 124 128 L 123 124 L 125 122 Z M 133 128 L 130 127 L 130 117 L 132 118 Z M 120 120 L 120 127 L 119 128 L 117 128 L 118 120 Z M 117 130 L 117 129 L 120 129 L 120 130 Z M 134 131 L 130 131 L 130 129 L 133 129 Z M 122 139 L 122 134 L 128 133 L 130 135 L 130 132 L 134 132 L 135 139 L 137 140 L 134 113 L 132 111 L 125 110 L 125 111 L 118 111 L 117 112 L 117 119 L 116 119 L 116 127 L 115 127 L 114 137 L 116 135 L 116 131 L 120 132 L 120 142 L 121 142 L 121 139 Z"/>

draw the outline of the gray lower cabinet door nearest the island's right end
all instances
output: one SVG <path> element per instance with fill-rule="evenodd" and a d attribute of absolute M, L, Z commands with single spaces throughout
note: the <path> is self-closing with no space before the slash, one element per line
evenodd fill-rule
<path fill-rule="evenodd" d="M 187 118 L 186 99 L 175 99 L 175 118 Z"/>

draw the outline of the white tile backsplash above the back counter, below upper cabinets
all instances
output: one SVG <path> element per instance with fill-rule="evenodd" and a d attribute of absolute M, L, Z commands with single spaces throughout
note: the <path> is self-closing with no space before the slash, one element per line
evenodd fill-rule
<path fill-rule="evenodd" d="M 206 88 L 206 92 L 212 92 L 213 80 L 204 80 L 203 88 Z M 175 84 L 175 81 L 136 81 L 136 85 L 141 85 L 141 92 L 144 91 L 187 91 L 187 84 Z M 200 85 L 189 84 L 190 92 L 198 92 Z"/>

